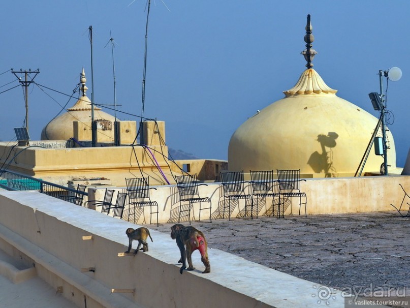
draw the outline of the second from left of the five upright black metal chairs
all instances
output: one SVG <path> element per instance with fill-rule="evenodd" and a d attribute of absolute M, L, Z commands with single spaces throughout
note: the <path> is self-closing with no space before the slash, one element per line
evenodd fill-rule
<path fill-rule="evenodd" d="M 212 203 L 208 197 L 201 198 L 198 193 L 198 186 L 206 185 L 205 183 L 198 184 L 197 175 L 178 175 L 175 176 L 175 181 L 179 193 L 179 215 L 178 223 L 181 220 L 181 213 L 188 212 L 191 225 L 191 207 L 193 203 L 199 202 L 199 216 L 198 221 L 201 220 L 201 210 L 209 209 L 209 220 L 212 222 Z M 182 209 L 182 202 L 188 202 L 188 208 Z M 202 202 L 209 202 L 209 207 L 202 207 Z"/>

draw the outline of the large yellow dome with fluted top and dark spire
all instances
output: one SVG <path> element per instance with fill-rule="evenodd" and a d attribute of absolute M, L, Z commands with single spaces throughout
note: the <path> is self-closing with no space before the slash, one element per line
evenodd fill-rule
<path fill-rule="evenodd" d="M 307 69 L 285 98 L 248 118 L 232 135 L 229 170 L 300 169 L 302 177 L 354 176 L 371 140 L 377 118 L 336 95 L 311 63 L 310 16 L 306 25 Z M 380 130 L 379 135 L 382 134 Z M 389 168 L 396 168 L 393 135 L 388 131 Z M 370 152 L 364 173 L 380 174 L 383 158 Z"/>

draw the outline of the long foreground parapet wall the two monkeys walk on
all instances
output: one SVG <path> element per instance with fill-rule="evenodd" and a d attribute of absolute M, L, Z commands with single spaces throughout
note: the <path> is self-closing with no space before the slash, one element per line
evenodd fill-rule
<path fill-rule="evenodd" d="M 194 253 L 197 269 L 181 275 L 175 241 L 156 231 L 149 252 L 118 257 L 128 243 L 125 230 L 137 226 L 38 192 L 0 192 L 0 212 L 0 249 L 12 246 L 15 257 L 80 307 L 311 307 L 315 302 L 314 284 L 218 250 L 208 250 L 211 273 L 201 273 L 200 254 Z M 343 306 L 341 298 L 337 302 Z"/>

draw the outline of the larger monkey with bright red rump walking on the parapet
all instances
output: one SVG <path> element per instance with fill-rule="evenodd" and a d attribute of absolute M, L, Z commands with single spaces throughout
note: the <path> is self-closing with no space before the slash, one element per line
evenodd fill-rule
<path fill-rule="evenodd" d="M 192 253 L 197 249 L 201 253 L 201 261 L 205 265 L 205 270 L 202 273 L 211 272 L 211 265 L 208 259 L 208 244 L 205 235 L 201 231 L 192 226 L 185 227 L 181 224 L 175 224 L 171 227 L 171 238 L 176 240 L 181 253 L 181 259 L 178 261 L 178 263 L 182 263 L 179 269 L 181 274 L 186 268 L 185 259 L 187 259 L 189 266 L 186 270 L 195 269 L 192 264 Z"/>

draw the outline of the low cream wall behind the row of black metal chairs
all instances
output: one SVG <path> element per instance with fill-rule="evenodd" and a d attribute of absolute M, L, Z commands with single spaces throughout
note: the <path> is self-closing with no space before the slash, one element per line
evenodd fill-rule
<path fill-rule="evenodd" d="M 306 179 L 301 182 L 301 191 L 307 195 L 307 214 L 329 214 L 329 213 L 355 213 L 371 211 L 390 211 L 394 208 L 391 203 L 400 205 L 403 199 L 403 191 L 399 184 L 410 193 L 410 176 L 391 175 L 391 176 L 366 176 L 366 177 L 346 177 L 346 178 L 316 178 Z M 170 223 L 178 222 L 179 215 L 179 194 L 175 185 L 156 186 L 156 190 L 150 191 L 152 201 L 159 204 L 159 222 Z M 198 187 L 201 197 L 209 197 L 212 202 L 212 219 L 218 219 L 223 215 L 224 196 L 221 183 L 207 183 Z M 124 189 L 117 191 L 126 192 Z M 249 183 L 245 186 L 247 193 L 252 193 Z M 89 200 L 103 200 L 105 189 L 89 188 Z M 113 200 L 116 196 L 114 195 Z M 278 199 L 275 200 L 275 211 Z M 285 200 L 285 215 L 299 213 L 299 200 L 297 197 L 292 200 Z M 249 203 L 249 202 L 248 202 Z M 255 203 L 256 204 L 256 200 Z M 272 214 L 272 198 L 259 199 L 259 215 Z M 206 203 L 203 205 L 207 205 Z M 187 209 L 188 203 L 182 203 L 182 208 Z M 250 207 L 248 207 L 248 215 Z M 97 208 L 99 210 L 99 208 Z M 100 208 L 101 210 L 101 208 Z M 243 217 L 244 200 L 232 202 L 231 217 Z M 131 211 L 133 212 L 133 211 Z M 129 206 L 124 210 L 124 220 L 134 222 L 134 215 L 129 218 Z M 304 209 L 301 209 L 304 213 Z M 209 210 L 202 210 L 201 220 L 209 220 Z M 254 206 L 256 215 L 256 206 Z M 148 208 L 137 208 L 136 223 L 150 222 Z M 226 215 L 228 217 L 228 210 Z M 199 219 L 199 203 L 194 203 L 191 209 L 191 220 Z M 181 217 L 181 222 L 187 222 L 187 212 Z M 156 217 L 152 216 L 152 222 L 156 223 Z"/>

